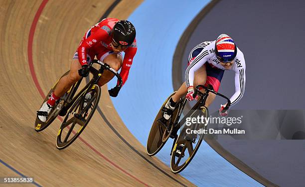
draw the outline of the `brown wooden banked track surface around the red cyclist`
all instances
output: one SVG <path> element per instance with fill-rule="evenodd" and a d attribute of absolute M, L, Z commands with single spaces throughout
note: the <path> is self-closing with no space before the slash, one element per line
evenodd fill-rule
<path fill-rule="evenodd" d="M 108 16 L 127 18 L 141 2 L 122 0 Z M 55 147 L 60 119 L 34 131 L 42 96 L 69 68 L 86 30 L 113 3 L 0 0 L 0 177 L 19 176 L 9 165 L 34 177 L 36 186 L 193 186 L 146 155 L 115 111 L 107 86 L 100 112 L 69 148 Z"/>

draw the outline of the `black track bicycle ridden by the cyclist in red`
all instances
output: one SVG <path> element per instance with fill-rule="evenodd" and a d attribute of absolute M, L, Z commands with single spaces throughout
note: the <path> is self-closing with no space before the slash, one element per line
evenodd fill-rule
<path fill-rule="evenodd" d="M 100 65 L 100 68 L 97 70 L 92 66 L 93 64 Z M 83 77 L 72 85 L 69 91 L 56 101 L 46 122 L 42 122 L 38 117 L 36 117 L 35 131 L 39 132 L 46 129 L 58 115 L 65 116 L 57 134 L 56 147 L 58 149 L 64 149 L 71 145 L 83 132 L 98 106 L 101 97 L 101 88 L 98 86 L 98 82 L 105 70 L 112 72 L 118 78 L 118 86 L 121 87 L 123 81 L 116 70 L 104 62 L 95 59 L 92 60 L 90 64 L 90 72 L 93 74 L 93 78 L 80 91 L 78 91 L 78 89 Z M 68 73 L 69 71 L 64 73 L 61 77 Z M 52 86 L 42 103 L 49 99 L 50 94 L 54 91 L 58 81 L 59 79 Z M 90 97 L 86 97 L 88 93 L 90 93 Z"/>

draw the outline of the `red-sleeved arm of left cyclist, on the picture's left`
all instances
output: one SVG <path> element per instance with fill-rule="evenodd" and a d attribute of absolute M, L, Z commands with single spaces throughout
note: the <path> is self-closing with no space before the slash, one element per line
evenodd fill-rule
<path fill-rule="evenodd" d="M 99 43 L 102 40 L 106 40 L 109 37 L 110 30 L 106 29 L 98 29 L 95 33 L 91 34 L 88 38 L 84 39 L 77 49 L 78 60 L 81 65 L 88 64 L 87 63 L 87 52 L 90 47 Z"/>

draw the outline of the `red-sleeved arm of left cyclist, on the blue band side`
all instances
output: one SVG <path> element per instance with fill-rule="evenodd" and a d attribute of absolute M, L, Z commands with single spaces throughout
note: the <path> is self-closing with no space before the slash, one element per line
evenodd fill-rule
<path fill-rule="evenodd" d="M 128 49 L 126 49 L 126 51 L 125 51 L 125 56 L 124 56 L 124 60 L 122 63 L 122 69 L 120 72 L 120 76 L 123 79 L 123 85 L 127 81 L 127 78 L 129 75 L 129 70 L 133 64 L 133 59 L 134 59 L 134 56 L 136 55 L 136 52 L 137 52 L 137 42 L 134 41 L 134 43 L 130 47 L 128 47 Z M 119 84 L 119 82 L 118 82 L 118 84 Z"/>

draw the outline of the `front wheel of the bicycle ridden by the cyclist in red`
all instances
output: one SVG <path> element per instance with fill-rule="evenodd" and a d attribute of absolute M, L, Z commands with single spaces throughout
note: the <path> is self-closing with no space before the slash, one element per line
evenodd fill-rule
<path fill-rule="evenodd" d="M 85 98 L 89 92 L 90 98 Z M 56 138 L 58 149 L 67 148 L 83 132 L 99 104 L 100 97 L 101 88 L 95 84 L 74 102 L 59 128 Z"/>

